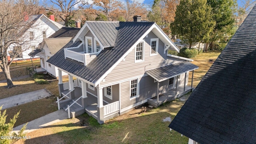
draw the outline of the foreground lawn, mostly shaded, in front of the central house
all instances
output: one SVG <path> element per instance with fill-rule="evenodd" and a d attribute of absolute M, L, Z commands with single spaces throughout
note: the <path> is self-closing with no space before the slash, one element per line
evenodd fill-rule
<path fill-rule="evenodd" d="M 35 137 L 26 140 L 26 144 L 44 143 L 44 140 L 51 138 L 61 139 L 66 144 L 72 143 L 165 143 L 165 144 L 186 144 L 188 138 L 181 136 L 178 132 L 168 128 L 170 122 L 163 120 L 170 117 L 172 120 L 180 110 L 184 102 L 174 100 L 158 108 L 149 108 L 145 113 L 133 110 L 112 120 L 99 125 L 97 120 L 82 114 L 78 116 L 78 122 L 72 119 L 66 122 L 59 122 L 38 131 L 55 132 L 45 133 L 46 136 Z M 64 120 L 65 121 L 65 120 Z M 50 129 L 50 130 L 49 130 Z M 28 134 L 29 135 L 29 134 Z"/>

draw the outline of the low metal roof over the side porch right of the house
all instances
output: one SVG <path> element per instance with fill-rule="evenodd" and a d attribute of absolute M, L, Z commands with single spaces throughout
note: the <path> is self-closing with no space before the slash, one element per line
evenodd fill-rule
<path fill-rule="evenodd" d="M 162 66 L 160 68 L 155 68 L 152 70 L 147 70 L 146 73 L 158 82 L 168 80 L 180 74 L 190 72 L 192 70 L 198 69 L 198 66 L 192 64 L 188 61 L 178 62 L 175 64 L 170 64 L 168 66 Z"/>

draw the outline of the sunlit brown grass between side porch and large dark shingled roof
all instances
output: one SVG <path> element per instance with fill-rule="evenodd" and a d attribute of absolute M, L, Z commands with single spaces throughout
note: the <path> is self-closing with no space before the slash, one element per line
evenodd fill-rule
<path fill-rule="evenodd" d="M 193 78 L 193 87 L 196 87 L 201 79 L 204 77 L 206 72 L 212 66 L 213 62 L 209 62 L 210 59 L 215 61 L 220 52 L 204 52 L 202 54 L 198 54 L 195 58 L 192 58 L 194 61 L 191 62 L 192 64 L 197 65 L 199 68 L 194 71 L 194 78 Z M 188 85 L 191 86 L 192 80 L 192 72 L 189 73 Z"/>

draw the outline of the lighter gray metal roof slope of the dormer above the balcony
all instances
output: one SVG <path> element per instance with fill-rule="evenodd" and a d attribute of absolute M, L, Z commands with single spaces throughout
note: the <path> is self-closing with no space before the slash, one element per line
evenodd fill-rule
<path fill-rule="evenodd" d="M 87 24 L 104 47 L 114 46 L 119 22 L 87 21 Z"/>

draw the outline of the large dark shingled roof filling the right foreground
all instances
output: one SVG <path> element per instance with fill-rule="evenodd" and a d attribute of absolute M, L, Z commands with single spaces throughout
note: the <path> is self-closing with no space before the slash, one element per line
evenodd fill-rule
<path fill-rule="evenodd" d="M 256 143 L 256 6 L 169 127 L 201 144 Z"/>

